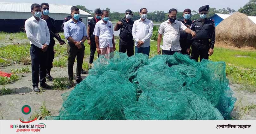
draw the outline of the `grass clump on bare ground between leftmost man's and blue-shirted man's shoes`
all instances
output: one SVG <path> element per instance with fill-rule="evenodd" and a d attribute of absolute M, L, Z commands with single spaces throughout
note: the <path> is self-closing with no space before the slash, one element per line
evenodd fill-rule
<path fill-rule="evenodd" d="M 70 86 L 68 78 L 54 78 L 53 80 L 53 90 L 65 90 L 67 86 Z"/>

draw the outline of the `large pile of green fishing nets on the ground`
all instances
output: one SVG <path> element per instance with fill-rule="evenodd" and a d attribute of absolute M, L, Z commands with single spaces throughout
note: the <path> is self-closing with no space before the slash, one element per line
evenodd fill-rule
<path fill-rule="evenodd" d="M 112 53 L 64 93 L 59 116 L 46 119 L 226 119 L 236 98 L 224 62 L 188 55 Z"/>

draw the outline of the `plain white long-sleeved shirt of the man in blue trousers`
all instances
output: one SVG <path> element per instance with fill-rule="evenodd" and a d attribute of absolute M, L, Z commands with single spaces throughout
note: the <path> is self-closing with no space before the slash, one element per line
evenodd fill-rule
<path fill-rule="evenodd" d="M 150 46 L 150 38 L 153 33 L 153 22 L 149 19 L 142 21 L 141 19 L 135 20 L 132 27 L 132 36 L 135 40 L 135 46 L 138 45 L 138 41 L 141 40 L 144 44 L 143 48 Z"/>

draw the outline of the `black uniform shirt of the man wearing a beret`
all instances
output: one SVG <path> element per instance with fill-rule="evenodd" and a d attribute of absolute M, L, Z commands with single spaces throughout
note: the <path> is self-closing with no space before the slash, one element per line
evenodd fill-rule
<path fill-rule="evenodd" d="M 209 40 L 210 48 L 213 49 L 215 44 L 215 23 L 213 20 L 206 18 L 204 24 L 201 19 L 195 20 L 192 22 L 191 30 L 197 33 L 193 40 Z"/>

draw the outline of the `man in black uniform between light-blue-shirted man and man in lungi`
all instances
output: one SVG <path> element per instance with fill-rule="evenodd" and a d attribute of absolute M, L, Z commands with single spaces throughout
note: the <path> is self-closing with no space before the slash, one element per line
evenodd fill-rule
<path fill-rule="evenodd" d="M 96 9 L 94 17 L 92 19 L 88 20 L 88 26 L 87 26 L 87 35 L 88 35 L 88 44 L 90 45 L 90 59 L 89 59 L 89 68 L 92 67 L 93 59 L 94 59 L 94 54 L 96 51 L 96 43 L 95 43 L 95 35 L 93 35 L 95 25 L 98 21 L 101 20 L 101 9 Z M 98 57 L 100 55 L 98 54 Z"/>

